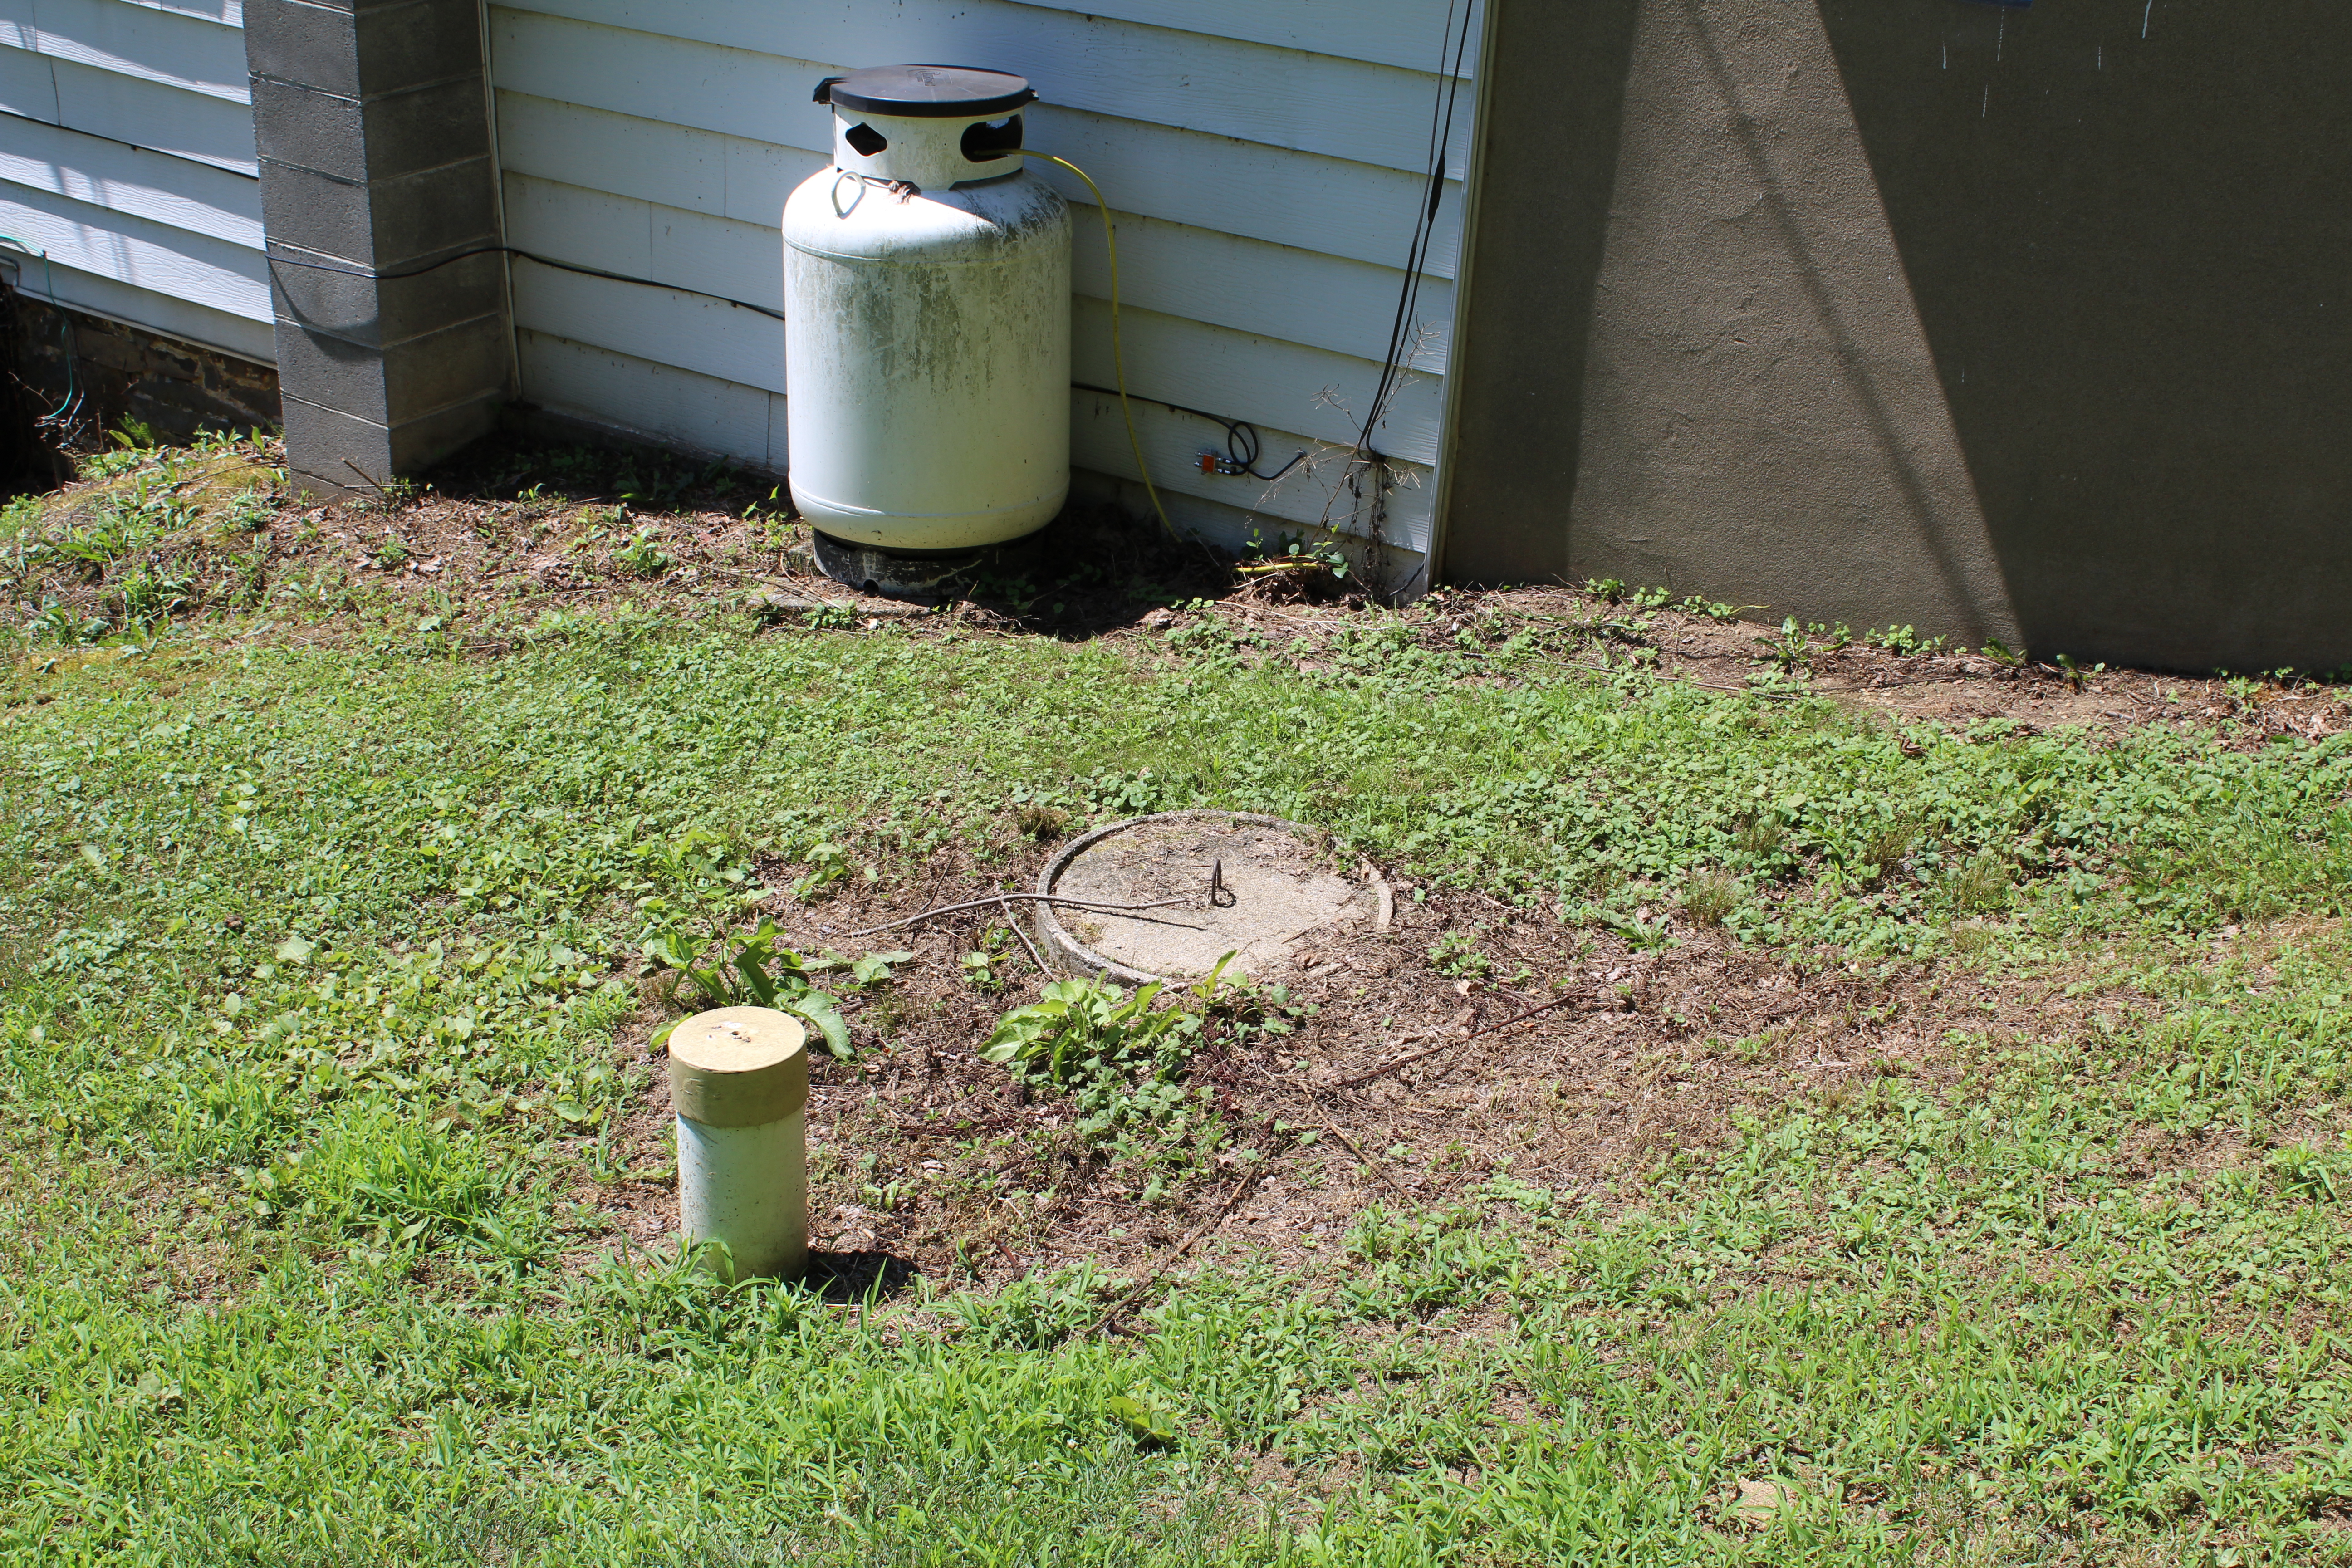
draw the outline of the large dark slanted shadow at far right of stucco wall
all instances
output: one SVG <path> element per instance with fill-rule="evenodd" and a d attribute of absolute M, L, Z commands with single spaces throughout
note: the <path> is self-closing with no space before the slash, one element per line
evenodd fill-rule
<path fill-rule="evenodd" d="M 2352 9 L 1820 16 L 2027 646 L 2352 663 Z"/>

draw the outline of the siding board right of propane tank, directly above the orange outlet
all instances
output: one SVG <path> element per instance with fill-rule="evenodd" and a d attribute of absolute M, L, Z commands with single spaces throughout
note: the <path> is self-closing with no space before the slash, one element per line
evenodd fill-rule
<path fill-rule="evenodd" d="M 1122 310 L 1120 329 L 1127 339 L 1129 393 L 1247 418 L 1270 430 L 1296 430 L 1319 442 L 1355 442 L 1355 423 L 1345 409 L 1324 402 L 1324 388 L 1362 409 L 1381 374 L 1369 360 L 1225 331 L 1178 315 Z M 1077 301 L 1070 364 L 1073 381 L 1117 386 L 1110 306 L 1098 299 Z M 1409 463 L 1435 463 L 1439 404 L 1437 378 L 1406 378 L 1390 400 L 1378 449 Z"/>

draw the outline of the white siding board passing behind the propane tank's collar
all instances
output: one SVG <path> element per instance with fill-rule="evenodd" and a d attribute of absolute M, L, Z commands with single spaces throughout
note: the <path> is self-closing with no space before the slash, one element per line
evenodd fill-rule
<path fill-rule="evenodd" d="M 774 80 L 771 56 L 506 9 L 494 12 L 492 47 L 501 99 L 520 92 L 673 127 L 797 146 L 811 155 L 828 155 L 833 146 L 826 120 L 809 129 L 779 113 L 776 101 L 788 94 Z M 1087 169 L 1124 212 L 1329 256 L 1402 266 L 1414 216 L 1428 200 L 1428 183 L 1397 169 L 1054 106 L 1033 108 L 1028 120 L 1030 146 L 1061 153 Z M 501 132 L 503 125 L 501 113 Z M 532 146 L 513 148 L 501 141 L 508 167 L 574 179 L 541 162 L 522 162 L 532 153 Z M 776 160 L 769 169 L 774 183 L 753 190 L 748 179 L 757 169 L 741 169 L 743 181 L 736 181 L 731 176 L 739 169 L 729 160 L 727 212 L 746 219 L 781 216 L 783 197 L 807 179 L 804 172 L 797 179 L 793 174 L 804 167 L 814 165 Z M 1068 172 L 1044 162 L 1035 167 L 1063 195 L 1084 195 L 1087 188 Z M 1454 275 L 1461 195 L 1461 181 L 1446 181 L 1439 233 L 1425 266 L 1437 277 Z"/>

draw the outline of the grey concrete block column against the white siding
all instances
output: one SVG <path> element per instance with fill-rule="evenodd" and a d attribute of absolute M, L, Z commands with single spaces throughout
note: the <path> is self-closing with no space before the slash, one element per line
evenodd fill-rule
<path fill-rule="evenodd" d="M 416 473 L 510 390 L 503 256 L 379 277 L 501 242 L 480 2 L 245 5 L 287 465 L 313 494 Z"/>

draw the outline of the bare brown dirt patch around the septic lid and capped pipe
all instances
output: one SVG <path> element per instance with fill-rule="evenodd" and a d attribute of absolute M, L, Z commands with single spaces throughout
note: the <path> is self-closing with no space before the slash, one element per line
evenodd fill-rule
<path fill-rule="evenodd" d="M 1042 849 L 1030 858 L 1042 858 Z M 1028 886 L 1035 865 L 861 889 L 776 910 L 807 952 L 910 950 L 887 987 L 849 999 L 856 1060 L 811 1063 L 811 1246 L 896 1260 L 943 1281 L 995 1281 L 1091 1258 L 1148 1279 L 1181 1255 L 1247 1248 L 1308 1269 L 1334 1260 L 1369 1206 L 1444 1208 L 1498 1175 L 1613 1204 L 1625 1182 L 1733 1135 L 1743 1107 L 1835 1105 L 1882 1077 L 1957 1084 L 1947 1030 L 2049 1034 L 2086 1025 L 2100 999 L 2056 983 L 2011 985 L 1929 966 L 1825 966 L 1677 931 L 1632 950 L 1604 933 L 1512 912 L 1477 893 L 1399 898 L 1385 933 L 1327 936 L 1268 973 L 1287 1001 L 1228 992 L 1190 1065 L 1228 1128 L 1211 1159 L 1148 1159 L 1075 1135 L 1070 1105 L 1023 1091 L 976 1056 L 995 1020 L 1037 997 L 1044 973 L 1002 936 L 1002 990 L 964 978 L 962 954 L 1009 924 L 960 912 L 849 943 L 847 931 Z M 1449 976 L 1465 952 L 1510 983 Z M 1296 1009 L 1296 1013 L 1291 1011 Z M 633 1034 L 647 1039 L 649 1011 Z M 1270 1032 L 1268 1023 L 1289 1025 Z M 637 1046 L 642 1051 L 642 1046 Z M 652 1056 L 644 1058 L 656 1065 Z M 614 1159 L 659 1180 L 600 1201 L 644 1246 L 675 1232 L 668 1107 L 659 1086 L 616 1135 Z"/>

